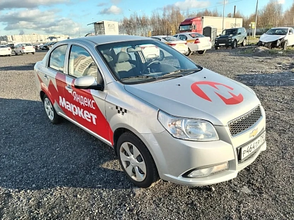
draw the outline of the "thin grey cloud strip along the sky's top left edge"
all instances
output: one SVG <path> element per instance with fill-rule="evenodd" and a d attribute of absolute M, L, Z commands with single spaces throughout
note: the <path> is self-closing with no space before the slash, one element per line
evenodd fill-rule
<path fill-rule="evenodd" d="M 36 8 L 52 4 L 68 3 L 69 0 L 1 0 L 0 10 L 8 8 Z"/>

